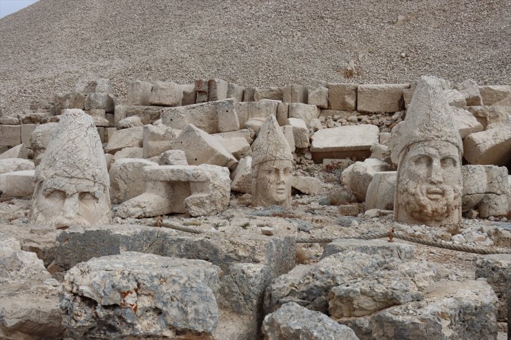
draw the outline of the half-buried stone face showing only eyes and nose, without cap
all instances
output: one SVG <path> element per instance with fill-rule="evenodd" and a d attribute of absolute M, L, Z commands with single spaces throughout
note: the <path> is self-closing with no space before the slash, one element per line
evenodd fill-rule
<path fill-rule="evenodd" d="M 30 215 L 56 228 L 110 223 L 110 197 L 101 183 L 52 177 L 36 183 Z"/>

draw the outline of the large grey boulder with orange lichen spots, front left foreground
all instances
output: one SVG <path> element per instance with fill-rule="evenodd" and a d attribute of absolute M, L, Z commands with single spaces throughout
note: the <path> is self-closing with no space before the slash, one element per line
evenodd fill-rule
<path fill-rule="evenodd" d="M 219 274 L 206 261 L 139 252 L 90 259 L 66 274 L 63 324 L 76 339 L 211 339 Z"/>

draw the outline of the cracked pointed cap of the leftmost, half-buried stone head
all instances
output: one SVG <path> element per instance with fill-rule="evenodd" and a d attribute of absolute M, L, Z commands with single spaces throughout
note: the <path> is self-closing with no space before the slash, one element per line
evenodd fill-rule
<path fill-rule="evenodd" d="M 59 188 L 59 183 L 60 186 L 73 183 L 73 179 L 85 179 L 110 188 L 97 128 L 93 118 L 79 109 L 67 110 L 62 115 L 35 172 L 36 181 L 45 180 L 54 188 Z"/>

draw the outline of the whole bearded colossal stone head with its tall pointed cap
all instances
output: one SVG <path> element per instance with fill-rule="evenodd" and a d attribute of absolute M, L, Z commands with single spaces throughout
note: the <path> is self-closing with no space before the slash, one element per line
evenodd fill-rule
<path fill-rule="evenodd" d="M 421 77 L 406 119 L 392 137 L 398 164 L 394 219 L 441 226 L 461 221 L 461 154 L 459 130 L 442 90 L 443 81 Z"/>

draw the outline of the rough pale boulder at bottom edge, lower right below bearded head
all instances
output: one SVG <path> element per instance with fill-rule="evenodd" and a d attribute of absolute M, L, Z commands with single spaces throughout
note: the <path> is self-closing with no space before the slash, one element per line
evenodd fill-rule
<path fill-rule="evenodd" d="M 443 281 L 424 300 L 337 319 L 360 339 L 496 339 L 496 297 L 485 281 Z"/>

